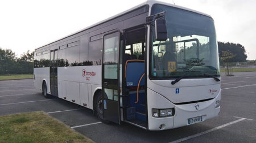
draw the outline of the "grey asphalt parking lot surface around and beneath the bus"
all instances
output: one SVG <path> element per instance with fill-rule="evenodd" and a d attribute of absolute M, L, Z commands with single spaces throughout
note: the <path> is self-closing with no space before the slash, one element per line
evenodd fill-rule
<path fill-rule="evenodd" d="M 0 81 L 0 115 L 43 110 L 95 142 L 256 142 L 256 72 L 223 75 L 221 89 L 220 116 L 167 131 L 103 124 L 89 109 L 44 98 L 32 79 Z"/>

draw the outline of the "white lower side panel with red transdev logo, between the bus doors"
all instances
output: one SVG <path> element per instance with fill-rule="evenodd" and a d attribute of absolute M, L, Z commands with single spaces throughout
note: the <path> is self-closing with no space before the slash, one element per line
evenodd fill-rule
<path fill-rule="evenodd" d="M 75 100 L 74 103 L 93 109 L 93 95 L 101 89 L 101 66 L 58 67 L 57 74 L 60 98 L 66 97 L 68 101 Z"/>

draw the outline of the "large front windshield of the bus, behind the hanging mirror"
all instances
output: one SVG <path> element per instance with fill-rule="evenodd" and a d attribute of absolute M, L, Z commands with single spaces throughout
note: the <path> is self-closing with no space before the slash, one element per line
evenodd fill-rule
<path fill-rule="evenodd" d="M 167 40 L 155 40 L 150 27 L 150 78 L 175 79 L 220 76 L 214 21 L 176 7 L 154 5 L 151 15 L 166 11 Z"/>

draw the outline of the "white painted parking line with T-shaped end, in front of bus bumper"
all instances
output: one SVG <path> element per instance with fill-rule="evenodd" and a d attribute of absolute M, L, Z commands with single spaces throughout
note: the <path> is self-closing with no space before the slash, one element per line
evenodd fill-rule
<path fill-rule="evenodd" d="M 240 118 L 240 117 L 237 117 L 237 116 L 234 116 L 234 117 L 235 117 L 235 118 Z M 191 138 L 195 138 L 195 137 L 198 137 L 198 136 L 202 136 L 202 135 L 205 135 L 205 134 L 207 134 L 207 133 L 209 133 L 209 132 L 216 131 L 217 129 L 224 128 L 224 127 L 226 127 L 226 126 L 228 126 L 228 125 L 232 125 L 232 124 L 241 122 L 242 120 L 253 120 L 253 119 L 240 118 L 240 119 L 238 119 L 238 120 L 234 120 L 233 122 L 229 122 L 229 123 L 220 125 L 220 126 L 218 126 L 218 127 L 215 127 L 215 128 L 212 128 L 212 129 L 208 129 L 207 131 L 204 131 L 204 132 L 201 132 L 201 133 L 197 133 L 197 134 L 192 135 L 192 136 L 180 138 L 179 140 L 171 141 L 171 142 L 169 142 L 169 143 L 177 143 L 177 142 L 189 140 L 189 139 L 191 139 Z"/>

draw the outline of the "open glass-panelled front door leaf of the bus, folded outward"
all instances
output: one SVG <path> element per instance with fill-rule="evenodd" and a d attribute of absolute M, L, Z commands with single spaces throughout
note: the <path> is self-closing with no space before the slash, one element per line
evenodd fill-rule
<path fill-rule="evenodd" d="M 102 54 L 103 117 L 120 124 L 119 32 L 105 34 Z"/>

